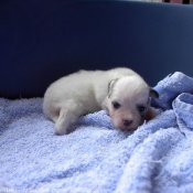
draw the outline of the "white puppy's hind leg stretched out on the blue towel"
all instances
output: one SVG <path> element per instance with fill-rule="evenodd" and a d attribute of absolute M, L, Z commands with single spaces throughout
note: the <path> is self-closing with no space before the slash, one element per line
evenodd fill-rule
<path fill-rule="evenodd" d="M 58 119 L 55 124 L 56 135 L 67 135 L 67 128 L 71 124 L 77 121 L 79 116 L 83 115 L 83 106 L 81 104 L 75 104 L 74 101 L 68 101 L 63 105 L 60 110 Z"/>

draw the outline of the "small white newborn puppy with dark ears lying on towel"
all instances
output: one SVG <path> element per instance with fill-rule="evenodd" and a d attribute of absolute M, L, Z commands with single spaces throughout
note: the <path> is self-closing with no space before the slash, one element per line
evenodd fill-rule
<path fill-rule="evenodd" d="M 133 130 L 144 119 L 156 117 L 151 97 L 159 95 L 130 68 L 79 71 L 51 84 L 43 111 L 55 122 L 57 135 L 66 135 L 68 126 L 81 116 L 101 109 L 109 111 L 116 128 Z"/>

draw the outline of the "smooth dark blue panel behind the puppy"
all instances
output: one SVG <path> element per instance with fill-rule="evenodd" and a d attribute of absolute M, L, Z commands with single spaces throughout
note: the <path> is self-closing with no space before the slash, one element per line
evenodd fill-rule
<path fill-rule="evenodd" d="M 193 7 L 132 1 L 0 1 L 0 97 L 43 96 L 78 69 L 127 66 L 154 86 L 193 76 Z"/>

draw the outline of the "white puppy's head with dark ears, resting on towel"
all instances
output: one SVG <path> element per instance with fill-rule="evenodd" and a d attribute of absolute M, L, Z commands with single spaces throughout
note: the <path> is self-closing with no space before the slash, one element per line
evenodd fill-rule
<path fill-rule="evenodd" d="M 115 127 L 120 130 L 137 129 L 144 121 L 151 97 L 158 97 L 158 93 L 140 76 L 111 81 L 106 106 Z"/>

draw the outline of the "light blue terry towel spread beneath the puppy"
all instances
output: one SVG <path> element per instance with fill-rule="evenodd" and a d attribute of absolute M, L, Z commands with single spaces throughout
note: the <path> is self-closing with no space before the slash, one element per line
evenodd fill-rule
<path fill-rule="evenodd" d="M 174 73 L 154 88 L 159 115 L 135 132 L 101 110 L 54 136 L 42 98 L 1 98 L 0 192 L 192 193 L 193 79 Z"/>

